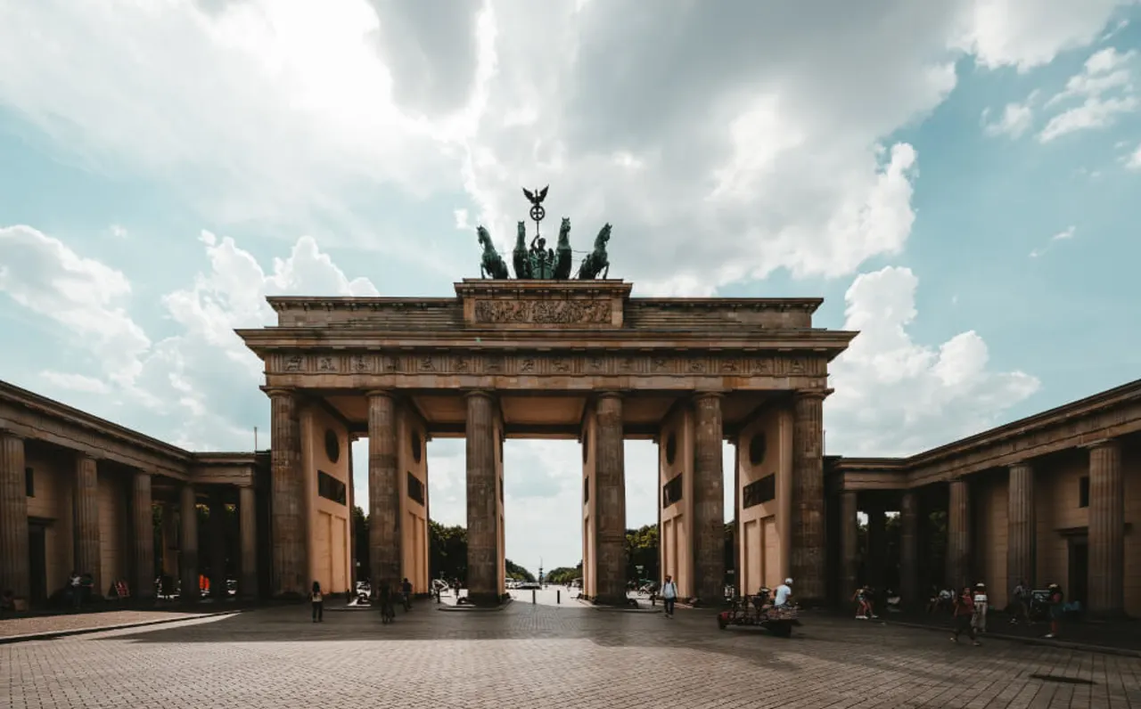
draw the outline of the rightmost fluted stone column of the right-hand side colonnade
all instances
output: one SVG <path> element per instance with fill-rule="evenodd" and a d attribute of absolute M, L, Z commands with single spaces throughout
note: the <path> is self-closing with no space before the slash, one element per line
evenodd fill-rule
<path fill-rule="evenodd" d="M 1114 441 L 1090 447 L 1090 612 L 1125 612 L 1125 487 L 1122 448 Z"/>

